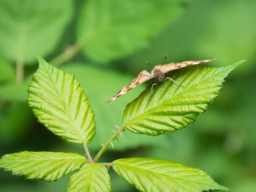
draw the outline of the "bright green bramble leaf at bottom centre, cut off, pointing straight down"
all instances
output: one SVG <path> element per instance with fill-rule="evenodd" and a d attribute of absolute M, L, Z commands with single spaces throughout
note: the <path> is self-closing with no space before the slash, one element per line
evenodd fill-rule
<path fill-rule="evenodd" d="M 108 192 L 110 176 L 101 164 L 84 164 L 69 180 L 69 192 Z"/>

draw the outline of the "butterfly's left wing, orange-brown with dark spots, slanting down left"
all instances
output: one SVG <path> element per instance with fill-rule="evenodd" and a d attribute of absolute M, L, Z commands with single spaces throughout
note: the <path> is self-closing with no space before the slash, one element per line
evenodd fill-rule
<path fill-rule="evenodd" d="M 120 91 L 118 91 L 116 93 L 115 96 L 113 96 L 108 102 L 106 102 L 105 104 L 108 104 L 109 102 L 115 100 L 116 98 L 118 98 L 121 95 L 124 95 L 124 93 L 127 93 L 127 91 L 130 91 L 132 88 L 137 87 L 138 85 L 140 85 L 143 82 L 146 82 L 147 80 L 151 80 L 153 77 L 151 76 L 150 73 L 143 71 L 140 72 L 140 74 L 138 74 L 138 77 L 136 77 L 134 80 L 132 80 L 132 82 L 129 83 L 129 85 L 124 86 L 124 88 L 121 88 Z"/>

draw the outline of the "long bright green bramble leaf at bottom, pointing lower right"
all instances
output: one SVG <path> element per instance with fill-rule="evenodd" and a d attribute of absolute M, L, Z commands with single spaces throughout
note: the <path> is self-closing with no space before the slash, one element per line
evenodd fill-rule
<path fill-rule="evenodd" d="M 157 158 L 121 158 L 113 169 L 139 191 L 229 191 L 200 169 Z"/>

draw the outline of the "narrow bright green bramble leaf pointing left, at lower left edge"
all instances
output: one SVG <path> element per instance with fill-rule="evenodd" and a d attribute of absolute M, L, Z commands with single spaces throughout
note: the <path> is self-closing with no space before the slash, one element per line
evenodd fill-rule
<path fill-rule="evenodd" d="M 28 179 L 59 180 L 80 168 L 86 158 L 76 153 L 23 151 L 4 155 L 0 167 L 12 174 L 24 174 Z"/>

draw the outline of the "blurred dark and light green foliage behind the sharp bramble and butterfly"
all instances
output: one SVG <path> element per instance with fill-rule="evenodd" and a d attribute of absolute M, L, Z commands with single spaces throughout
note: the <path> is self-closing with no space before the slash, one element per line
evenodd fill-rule
<path fill-rule="evenodd" d="M 37 123 L 26 102 L 35 55 L 75 74 L 89 96 L 95 155 L 124 107 L 146 85 L 105 105 L 146 65 L 218 58 L 209 66 L 244 64 L 227 77 L 214 104 L 187 128 L 159 137 L 126 131 L 100 161 L 167 158 L 203 169 L 230 191 L 256 191 L 255 0 L 0 0 L 0 155 L 23 150 L 83 154 Z M 110 169 L 112 191 L 135 191 Z M 0 191 L 66 191 L 54 183 L 0 172 Z"/>

